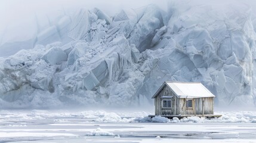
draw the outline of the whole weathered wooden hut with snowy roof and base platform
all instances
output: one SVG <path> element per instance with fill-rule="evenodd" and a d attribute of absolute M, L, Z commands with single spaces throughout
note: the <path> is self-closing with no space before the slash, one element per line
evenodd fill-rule
<path fill-rule="evenodd" d="M 199 82 L 164 82 L 153 95 L 155 115 L 165 117 L 214 115 L 214 95 Z"/>

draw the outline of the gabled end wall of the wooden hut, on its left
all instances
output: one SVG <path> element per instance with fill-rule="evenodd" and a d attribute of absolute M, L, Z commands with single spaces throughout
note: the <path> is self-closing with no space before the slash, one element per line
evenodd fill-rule
<path fill-rule="evenodd" d="M 170 98 L 161 98 L 170 97 Z M 172 100 L 172 108 L 162 108 L 162 100 Z M 156 115 L 173 115 L 177 114 L 179 107 L 177 106 L 177 97 L 171 88 L 164 85 L 164 88 L 159 92 L 155 98 L 155 114 Z"/>

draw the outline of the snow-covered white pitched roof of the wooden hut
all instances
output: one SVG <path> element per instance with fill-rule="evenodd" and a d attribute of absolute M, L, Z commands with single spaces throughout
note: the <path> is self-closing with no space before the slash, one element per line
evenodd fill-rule
<path fill-rule="evenodd" d="M 169 86 L 179 98 L 215 97 L 200 82 L 165 82 L 152 98 L 158 95 L 164 85 Z"/>

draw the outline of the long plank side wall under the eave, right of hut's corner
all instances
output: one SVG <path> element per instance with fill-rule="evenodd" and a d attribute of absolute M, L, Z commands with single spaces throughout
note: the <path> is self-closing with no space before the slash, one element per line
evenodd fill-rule
<path fill-rule="evenodd" d="M 192 108 L 186 108 L 186 98 L 181 98 L 181 114 L 214 114 L 214 98 L 187 98 L 192 100 Z"/>

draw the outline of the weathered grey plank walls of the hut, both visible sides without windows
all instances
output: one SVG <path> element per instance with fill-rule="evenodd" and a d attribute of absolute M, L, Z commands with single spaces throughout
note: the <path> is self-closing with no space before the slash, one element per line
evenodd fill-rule
<path fill-rule="evenodd" d="M 162 100 L 172 100 L 172 107 L 162 108 Z M 186 100 L 192 100 L 192 108 L 186 107 Z M 167 85 L 164 85 L 164 88 L 162 88 L 162 90 L 155 98 L 155 115 L 196 114 L 214 114 L 214 98 L 178 98 L 172 89 Z"/>

